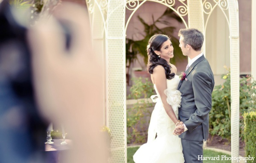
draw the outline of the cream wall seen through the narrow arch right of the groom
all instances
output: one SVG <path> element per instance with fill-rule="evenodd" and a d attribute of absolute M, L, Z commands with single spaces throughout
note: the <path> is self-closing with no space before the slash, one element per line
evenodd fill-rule
<path fill-rule="evenodd" d="M 226 13 L 228 14 L 228 13 Z M 230 67 L 230 39 L 229 26 L 224 13 L 219 7 L 216 7 L 206 26 L 205 42 L 206 42 L 206 58 L 212 67 L 215 77 L 215 85 L 224 82 L 221 79 L 222 74 L 228 71 L 224 66 Z M 206 20 L 205 20 L 206 21 Z"/>

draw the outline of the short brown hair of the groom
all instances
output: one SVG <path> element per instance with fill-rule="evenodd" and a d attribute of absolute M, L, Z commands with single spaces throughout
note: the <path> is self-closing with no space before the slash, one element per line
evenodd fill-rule
<path fill-rule="evenodd" d="M 195 51 L 201 51 L 204 43 L 204 35 L 195 28 L 180 29 L 178 36 L 183 37 L 184 46 L 189 44 Z"/>

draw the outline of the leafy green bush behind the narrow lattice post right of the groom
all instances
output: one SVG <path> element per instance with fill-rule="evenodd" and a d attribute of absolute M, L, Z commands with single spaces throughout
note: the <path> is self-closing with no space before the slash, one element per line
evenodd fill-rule
<path fill-rule="evenodd" d="M 224 66 L 225 67 L 225 66 Z M 227 69 L 227 67 L 225 67 Z M 230 70 L 223 75 L 225 82 L 215 86 L 212 92 L 212 110 L 209 113 L 209 133 L 231 140 L 231 104 L 230 104 Z M 243 139 L 243 113 L 254 111 L 256 108 L 256 82 L 251 77 L 240 79 L 240 138 Z"/>

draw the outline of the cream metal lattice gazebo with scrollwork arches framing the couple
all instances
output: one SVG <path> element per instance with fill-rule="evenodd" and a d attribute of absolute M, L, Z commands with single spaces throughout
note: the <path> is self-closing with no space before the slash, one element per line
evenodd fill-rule
<path fill-rule="evenodd" d="M 111 163 L 126 163 L 126 72 L 125 31 L 130 17 L 146 1 L 172 8 L 186 28 L 204 34 L 215 7 L 221 8 L 230 31 L 231 65 L 231 153 L 239 156 L 239 13 L 237 0 L 86 0 L 90 15 L 93 47 L 102 61 L 102 89 L 105 102 L 102 119 L 112 134 Z M 175 3 L 181 4 L 174 7 Z M 125 9 L 133 10 L 125 22 Z M 187 17 L 187 22 L 183 17 Z M 205 43 L 203 46 L 204 55 Z M 235 160 L 233 160 L 234 162 Z"/>

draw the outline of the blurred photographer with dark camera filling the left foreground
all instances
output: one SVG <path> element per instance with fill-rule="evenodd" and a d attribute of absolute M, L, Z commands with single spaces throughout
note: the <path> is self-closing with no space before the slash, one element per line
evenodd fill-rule
<path fill-rule="evenodd" d="M 44 163 L 49 122 L 63 124 L 65 163 L 107 162 L 100 133 L 103 83 L 86 8 L 61 3 L 36 25 L 20 25 L 0 3 L 0 162 Z"/>

